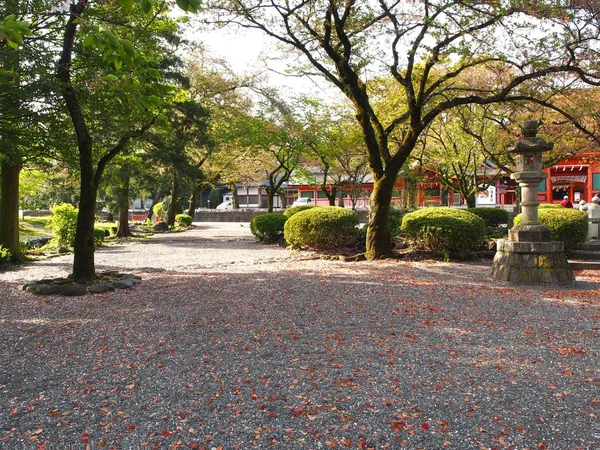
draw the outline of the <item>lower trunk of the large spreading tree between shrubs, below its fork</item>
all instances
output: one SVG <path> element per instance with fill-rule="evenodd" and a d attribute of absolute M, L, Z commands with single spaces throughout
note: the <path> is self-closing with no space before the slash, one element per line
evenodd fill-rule
<path fill-rule="evenodd" d="M 384 258 L 392 251 L 389 214 L 394 181 L 395 177 L 386 174 L 373 185 L 365 252 L 369 260 Z"/>

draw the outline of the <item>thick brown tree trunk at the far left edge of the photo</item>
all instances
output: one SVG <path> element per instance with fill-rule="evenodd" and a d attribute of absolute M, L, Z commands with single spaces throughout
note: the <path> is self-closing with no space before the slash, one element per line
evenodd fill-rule
<path fill-rule="evenodd" d="M 26 260 L 19 243 L 19 173 L 21 164 L 2 162 L 0 191 L 0 245 L 11 253 L 11 261 Z"/>

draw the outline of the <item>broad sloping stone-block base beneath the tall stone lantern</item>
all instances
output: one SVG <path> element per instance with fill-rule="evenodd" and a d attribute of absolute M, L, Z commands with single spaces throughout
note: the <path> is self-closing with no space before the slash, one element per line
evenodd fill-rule
<path fill-rule="evenodd" d="M 564 243 L 557 241 L 498 241 L 490 277 L 517 284 L 569 285 L 575 281 Z"/>

